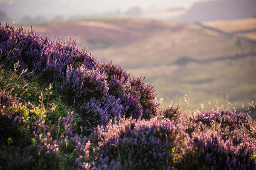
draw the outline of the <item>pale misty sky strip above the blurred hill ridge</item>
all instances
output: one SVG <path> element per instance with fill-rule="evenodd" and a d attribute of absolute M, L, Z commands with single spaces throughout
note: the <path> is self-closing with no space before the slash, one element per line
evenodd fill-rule
<path fill-rule="evenodd" d="M 93 16 L 105 12 L 124 12 L 131 7 L 140 7 L 145 12 L 168 8 L 190 8 L 204 0 L 0 0 L 0 11 L 20 19 L 30 17 Z"/>

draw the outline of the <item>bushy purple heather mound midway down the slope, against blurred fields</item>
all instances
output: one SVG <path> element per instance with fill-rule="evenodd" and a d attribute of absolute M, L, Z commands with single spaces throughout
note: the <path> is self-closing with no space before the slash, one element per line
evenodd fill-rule
<path fill-rule="evenodd" d="M 91 123 L 89 124 L 106 125 L 118 114 L 121 116 L 125 114 L 126 118 L 132 116 L 134 119 L 151 118 L 159 114 L 159 104 L 154 102 L 155 95 L 151 85 L 146 85 L 141 77 L 131 78 L 120 67 L 114 67 L 111 63 L 102 64 L 102 67 L 104 69 L 100 70 L 88 69 L 85 65 L 77 68 L 68 66 L 62 86 L 67 103 L 75 103 L 76 106 L 80 106 L 82 118 L 90 119 Z M 106 109 L 109 108 L 110 100 L 117 103 L 112 104 L 111 108 L 115 112 L 119 111 L 118 113 L 112 113 Z M 96 115 L 101 117 L 97 119 L 101 122 L 87 114 L 91 112 L 88 108 L 94 110 L 94 117 L 97 117 Z"/>

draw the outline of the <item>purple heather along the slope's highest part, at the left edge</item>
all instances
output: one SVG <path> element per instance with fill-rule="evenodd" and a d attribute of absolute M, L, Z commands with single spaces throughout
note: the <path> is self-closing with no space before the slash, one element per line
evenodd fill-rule
<path fill-rule="evenodd" d="M 23 32 L 23 27 L 15 30 L 0 25 L 0 40 L 0 64 L 12 66 L 19 59 L 20 71 L 28 68 L 30 76 L 41 75 L 51 82 L 58 80 L 70 64 L 83 63 L 88 68 L 96 65 L 95 58 L 76 47 L 76 42 L 50 42 L 33 31 Z"/>

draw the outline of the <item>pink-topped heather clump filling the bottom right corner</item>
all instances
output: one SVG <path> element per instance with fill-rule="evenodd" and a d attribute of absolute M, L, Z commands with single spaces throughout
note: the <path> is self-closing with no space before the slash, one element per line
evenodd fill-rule
<path fill-rule="evenodd" d="M 254 170 L 256 140 L 247 128 L 250 122 L 246 113 L 223 109 L 184 118 L 191 141 L 178 168 Z"/>

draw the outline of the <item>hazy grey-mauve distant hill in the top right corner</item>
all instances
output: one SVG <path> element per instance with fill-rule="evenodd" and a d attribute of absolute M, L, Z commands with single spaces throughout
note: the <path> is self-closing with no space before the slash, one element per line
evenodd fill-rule
<path fill-rule="evenodd" d="M 255 0 L 204 0 L 195 3 L 179 21 L 204 22 L 256 16 Z"/>

